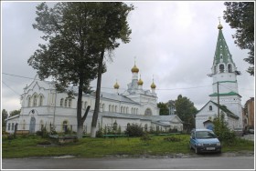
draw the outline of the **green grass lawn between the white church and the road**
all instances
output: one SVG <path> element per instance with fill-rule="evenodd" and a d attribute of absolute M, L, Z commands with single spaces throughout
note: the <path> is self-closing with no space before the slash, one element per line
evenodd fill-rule
<path fill-rule="evenodd" d="M 103 157 L 110 155 L 152 155 L 195 153 L 188 149 L 188 135 L 150 136 L 151 140 L 143 141 L 140 137 L 91 138 L 84 137 L 76 143 L 61 146 L 38 146 L 48 139 L 40 136 L 18 136 L 16 139 L 2 139 L 3 158 L 30 156 L 64 156 Z M 166 137 L 175 137 L 177 141 L 166 141 Z M 222 152 L 253 151 L 254 143 L 239 139 L 232 146 L 223 144 Z"/>

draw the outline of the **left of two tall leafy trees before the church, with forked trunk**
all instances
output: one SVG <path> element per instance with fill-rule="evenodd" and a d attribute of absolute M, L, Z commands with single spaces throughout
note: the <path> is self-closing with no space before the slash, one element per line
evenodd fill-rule
<path fill-rule="evenodd" d="M 53 76 L 59 92 L 69 85 L 78 85 L 77 134 L 82 137 L 85 114 L 81 114 L 82 93 L 88 90 L 97 76 L 99 53 L 93 52 L 88 37 L 91 34 L 91 3 L 58 3 L 48 8 L 46 3 L 37 5 L 35 29 L 42 31 L 46 45 L 39 49 L 27 63 L 37 69 L 40 79 Z M 72 92 L 69 92 L 70 97 Z"/>

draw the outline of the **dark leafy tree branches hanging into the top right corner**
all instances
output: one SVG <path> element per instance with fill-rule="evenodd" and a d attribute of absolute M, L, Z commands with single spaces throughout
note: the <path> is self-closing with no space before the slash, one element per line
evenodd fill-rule
<path fill-rule="evenodd" d="M 224 19 L 236 28 L 232 35 L 240 49 L 249 49 L 249 56 L 244 58 L 251 66 L 247 72 L 254 75 L 254 2 L 225 2 Z"/>

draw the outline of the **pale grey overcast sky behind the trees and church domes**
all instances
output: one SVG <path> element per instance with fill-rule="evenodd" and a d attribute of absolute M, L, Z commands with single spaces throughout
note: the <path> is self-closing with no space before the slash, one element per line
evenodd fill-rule
<path fill-rule="evenodd" d="M 128 2 L 127 2 L 128 3 Z M 212 93 L 211 73 L 213 56 L 221 16 L 223 34 L 241 75 L 238 76 L 241 105 L 254 96 L 254 77 L 246 72 L 247 50 L 234 44 L 235 30 L 223 20 L 224 2 L 129 2 L 135 9 L 128 17 L 132 28 L 131 42 L 120 45 L 107 62 L 107 73 L 102 75 L 101 91 L 113 92 L 115 81 L 120 92 L 132 80 L 134 57 L 144 81 L 150 89 L 153 75 L 158 102 L 187 96 L 200 109 Z M 128 3 L 128 4 L 129 4 Z M 39 2 L 1 2 L 1 65 L 2 109 L 8 112 L 19 109 L 23 88 L 33 80 L 36 70 L 27 65 L 43 41 L 39 31 L 33 29 L 36 5 Z M 10 75 L 6 75 L 10 74 Z M 95 81 L 92 83 L 95 86 Z"/>

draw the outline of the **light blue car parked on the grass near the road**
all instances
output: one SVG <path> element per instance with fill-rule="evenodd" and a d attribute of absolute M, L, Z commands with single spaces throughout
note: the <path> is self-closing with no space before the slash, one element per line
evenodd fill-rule
<path fill-rule="evenodd" d="M 189 148 L 195 149 L 197 154 L 203 152 L 221 153 L 219 139 L 209 129 L 193 129 L 189 140 Z"/>

